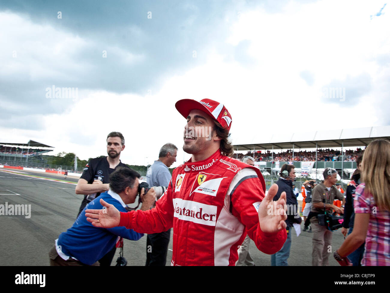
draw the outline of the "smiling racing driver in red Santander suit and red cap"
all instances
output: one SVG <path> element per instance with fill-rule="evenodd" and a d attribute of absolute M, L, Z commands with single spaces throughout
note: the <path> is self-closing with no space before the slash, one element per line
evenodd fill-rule
<path fill-rule="evenodd" d="M 178 106 L 181 101 L 185 101 L 184 106 L 183 103 Z M 209 99 L 181 101 L 176 103 L 176 108 L 184 117 L 187 116 L 187 125 L 193 120 L 209 125 L 209 120 L 214 119 L 218 123 L 225 121 L 220 125 L 229 131 L 230 114 L 222 104 Z M 195 110 L 186 111 L 181 106 Z M 207 107 L 211 110 L 204 109 Z M 214 109 L 218 111 L 218 107 L 222 115 L 212 112 Z M 223 118 L 223 115 L 229 119 Z M 194 123 L 197 125 L 197 122 Z M 211 136 L 210 140 L 215 134 Z M 273 226 L 277 227 L 266 233 L 261 230 L 259 221 L 259 207 L 265 192 L 264 178 L 259 169 L 222 155 L 220 141 L 215 141 L 208 142 L 207 138 L 202 140 L 199 135 L 185 134 L 183 149 L 192 157 L 174 169 L 168 189 L 156 202 L 156 207 L 148 211 L 115 213 L 115 226 L 126 226 L 139 233 L 158 233 L 173 227 L 171 265 L 234 265 L 238 259 L 237 250 L 247 233 L 257 248 L 267 254 L 279 251 L 287 238 L 285 215 L 281 210 L 276 215 L 270 215 L 269 207 L 263 207 L 265 202 L 272 203 L 277 187 L 269 190 L 269 199 L 262 205 L 262 215 L 265 213 L 268 217 L 261 218 L 264 226 L 268 229 L 267 225 L 272 220 L 276 223 Z M 210 154 L 211 150 L 214 152 Z M 285 197 L 277 202 L 284 203 Z M 113 211 L 109 210 L 110 205 L 105 206 L 108 207 L 105 212 L 86 211 L 87 217 L 94 218 L 88 218 L 94 226 L 104 227 L 105 217 L 111 217 Z"/>

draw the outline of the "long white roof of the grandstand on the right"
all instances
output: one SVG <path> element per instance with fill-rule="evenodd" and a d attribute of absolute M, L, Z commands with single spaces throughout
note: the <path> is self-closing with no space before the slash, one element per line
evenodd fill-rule
<path fill-rule="evenodd" d="M 300 133 L 279 131 L 269 138 L 259 136 L 234 139 L 234 150 L 316 148 L 316 143 L 318 148 L 340 148 L 343 143 L 344 147 L 367 146 L 374 139 L 390 141 L 390 125 Z"/>

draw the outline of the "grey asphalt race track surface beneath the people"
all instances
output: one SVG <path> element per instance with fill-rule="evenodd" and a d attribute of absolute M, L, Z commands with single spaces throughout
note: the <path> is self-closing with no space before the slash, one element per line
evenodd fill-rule
<path fill-rule="evenodd" d="M 0 204 L 31 205 L 30 218 L 24 215 L 0 215 L 0 265 L 47 266 L 48 252 L 61 232 L 73 225 L 83 196 L 74 193 L 78 178 L 56 182 L 30 176 L 64 180 L 64 176 L 18 170 L 17 173 L 0 169 Z M 15 170 L 13 170 L 15 171 Z M 22 173 L 19 175 L 18 173 Z M 301 224 L 303 228 L 303 223 Z M 289 265 L 311 265 L 312 233 L 292 232 Z M 168 246 L 167 265 L 172 258 L 172 231 Z M 340 247 L 344 237 L 340 229 L 333 232 L 332 251 Z M 128 265 L 144 266 L 146 261 L 146 235 L 138 241 L 124 239 L 124 257 Z M 269 266 L 270 256 L 250 243 L 250 254 L 256 266 Z M 119 256 L 117 249 L 112 265 Z M 331 254 L 329 265 L 339 266 Z"/>

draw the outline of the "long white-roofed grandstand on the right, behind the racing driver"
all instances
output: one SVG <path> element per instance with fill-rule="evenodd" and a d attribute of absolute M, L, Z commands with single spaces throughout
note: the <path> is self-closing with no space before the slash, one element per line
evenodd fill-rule
<path fill-rule="evenodd" d="M 261 133 L 261 132 L 259 132 Z M 386 139 L 390 141 L 390 125 L 379 127 L 363 127 L 353 129 L 339 129 L 329 131 L 307 131 L 303 133 L 287 133 L 280 130 L 268 137 L 255 134 L 253 137 L 237 137 L 233 141 L 234 151 L 238 158 L 238 152 L 257 154 L 257 151 L 271 150 L 272 159 L 269 162 L 258 162 L 259 168 L 271 175 L 280 170 L 283 164 L 294 164 L 296 173 L 300 173 L 303 161 L 294 160 L 294 150 L 315 149 L 316 157 L 312 166 L 310 178 L 321 180 L 322 172 L 325 168 L 336 169 L 341 181 L 346 182 L 354 169 L 356 162 L 345 161 L 345 148 L 366 147 L 375 139 Z M 341 148 L 340 161 L 318 161 L 317 152 L 322 148 Z M 292 150 L 291 161 L 275 162 L 273 153 L 276 150 Z M 299 175 L 299 174 L 298 174 Z M 273 179 L 271 179 L 273 180 Z M 344 180 L 344 181 L 343 181 Z"/>

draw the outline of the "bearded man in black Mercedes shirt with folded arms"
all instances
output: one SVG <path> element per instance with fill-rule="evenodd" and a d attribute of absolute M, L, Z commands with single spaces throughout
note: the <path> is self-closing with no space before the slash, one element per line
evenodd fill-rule
<path fill-rule="evenodd" d="M 124 150 L 124 137 L 121 132 L 110 132 L 107 136 L 107 157 L 90 159 L 76 185 L 76 194 L 84 194 L 78 215 L 87 203 L 97 198 L 101 192 L 110 189 L 109 176 L 118 167 L 126 167 L 119 157 Z M 77 215 L 77 216 L 78 216 Z M 111 265 L 115 247 L 99 260 L 101 266 Z"/>

